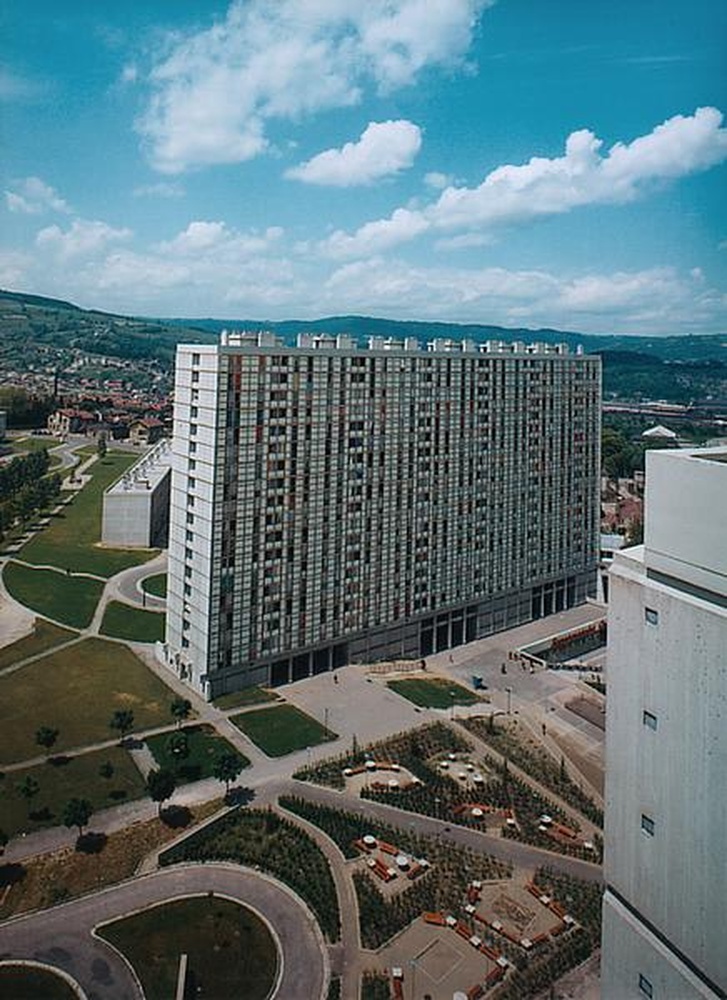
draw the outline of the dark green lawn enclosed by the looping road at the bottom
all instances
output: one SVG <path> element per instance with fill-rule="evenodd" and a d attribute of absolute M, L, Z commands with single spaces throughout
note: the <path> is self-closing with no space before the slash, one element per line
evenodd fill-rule
<path fill-rule="evenodd" d="M 273 936 L 252 910 L 230 899 L 174 900 L 105 924 L 98 934 L 129 960 L 147 1000 L 175 995 L 181 953 L 203 997 L 266 1000 L 275 983 Z"/>

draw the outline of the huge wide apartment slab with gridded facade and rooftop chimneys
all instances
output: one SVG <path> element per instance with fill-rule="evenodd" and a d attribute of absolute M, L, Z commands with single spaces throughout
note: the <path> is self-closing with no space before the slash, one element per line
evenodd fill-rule
<path fill-rule="evenodd" d="M 215 697 L 582 602 L 599 399 L 563 346 L 180 346 L 162 658 Z"/>

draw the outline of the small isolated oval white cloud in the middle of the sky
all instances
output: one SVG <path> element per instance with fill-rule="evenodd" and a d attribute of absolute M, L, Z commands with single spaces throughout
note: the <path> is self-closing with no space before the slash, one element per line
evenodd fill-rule
<path fill-rule="evenodd" d="M 413 122 L 370 122 L 358 142 L 318 153 L 286 171 L 285 176 L 332 187 L 372 184 L 410 167 L 421 144 L 421 129 Z"/>

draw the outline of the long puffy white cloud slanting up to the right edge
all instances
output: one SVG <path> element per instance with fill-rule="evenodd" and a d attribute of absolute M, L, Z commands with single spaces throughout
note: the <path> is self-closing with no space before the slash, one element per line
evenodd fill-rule
<path fill-rule="evenodd" d="M 450 186 L 423 209 L 398 208 L 388 219 L 367 222 L 352 235 L 337 232 L 328 249 L 355 256 L 370 252 L 371 233 L 387 232 L 391 247 L 428 228 L 488 231 L 585 205 L 633 201 L 654 184 L 726 160 L 727 129 L 721 127 L 722 118 L 716 108 L 698 108 L 692 116 L 676 115 L 630 144 L 616 143 L 605 155 L 593 132 L 572 132 L 563 156 L 536 156 L 525 164 L 497 167 L 476 188 Z M 406 226 L 397 224 L 402 212 Z"/>

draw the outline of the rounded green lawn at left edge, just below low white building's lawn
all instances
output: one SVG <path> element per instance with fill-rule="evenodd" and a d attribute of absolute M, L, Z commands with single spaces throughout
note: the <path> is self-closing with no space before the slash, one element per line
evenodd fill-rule
<path fill-rule="evenodd" d="M 91 624 L 104 588 L 100 580 L 32 569 L 15 562 L 6 565 L 3 578 L 16 601 L 71 628 Z"/>

